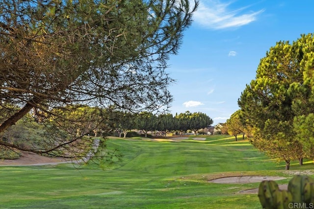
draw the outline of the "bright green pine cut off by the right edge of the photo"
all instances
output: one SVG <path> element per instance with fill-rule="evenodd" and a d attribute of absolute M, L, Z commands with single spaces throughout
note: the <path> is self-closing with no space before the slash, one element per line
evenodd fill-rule
<path fill-rule="evenodd" d="M 314 158 L 313 148 L 313 109 L 314 109 L 314 34 L 302 35 L 295 43 L 302 56 L 300 69 L 303 72 L 300 82 L 293 82 L 288 93 L 293 98 L 292 111 L 295 115 L 293 127 L 296 138 L 302 144 L 306 157 Z"/>

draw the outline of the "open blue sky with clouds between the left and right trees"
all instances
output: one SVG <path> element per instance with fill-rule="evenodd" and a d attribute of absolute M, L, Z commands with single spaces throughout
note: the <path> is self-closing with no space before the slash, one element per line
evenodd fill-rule
<path fill-rule="evenodd" d="M 312 0 L 200 0 L 179 54 L 171 56 L 170 112 L 202 112 L 213 125 L 239 109 L 245 85 L 278 41 L 314 32 Z"/>

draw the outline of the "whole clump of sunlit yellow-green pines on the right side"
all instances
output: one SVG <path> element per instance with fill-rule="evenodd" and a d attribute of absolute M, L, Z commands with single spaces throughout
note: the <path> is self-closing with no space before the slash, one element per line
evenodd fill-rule
<path fill-rule="evenodd" d="M 238 105 L 253 145 L 286 169 L 291 160 L 314 159 L 314 34 L 271 47 Z"/>

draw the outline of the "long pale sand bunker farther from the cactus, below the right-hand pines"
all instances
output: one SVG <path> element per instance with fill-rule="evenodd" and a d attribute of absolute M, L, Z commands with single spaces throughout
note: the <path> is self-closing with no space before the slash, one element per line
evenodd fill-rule
<path fill-rule="evenodd" d="M 257 183 L 267 180 L 282 180 L 286 179 L 285 177 L 279 176 L 233 176 L 233 177 L 224 177 L 219 179 L 210 180 L 208 182 L 217 183 L 217 184 L 247 184 L 247 183 Z"/>

